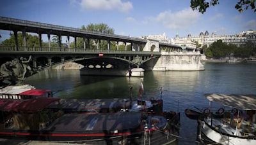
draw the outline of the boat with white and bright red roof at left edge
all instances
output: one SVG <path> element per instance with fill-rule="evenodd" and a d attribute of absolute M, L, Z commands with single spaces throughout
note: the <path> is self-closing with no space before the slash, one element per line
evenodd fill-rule
<path fill-rule="evenodd" d="M 52 97 L 52 91 L 36 89 L 31 85 L 6 86 L 0 89 L 0 99 L 33 99 L 37 97 Z"/>

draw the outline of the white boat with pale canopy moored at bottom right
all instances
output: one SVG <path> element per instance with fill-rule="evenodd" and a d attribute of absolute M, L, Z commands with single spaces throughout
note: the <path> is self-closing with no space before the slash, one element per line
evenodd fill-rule
<path fill-rule="evenodd" d="M 211 102 L 227 106 L 228 109 L 221 108 L 222 117 L 209 113 L 198 120 L 198 136 L 202 142 L 256 144 L 256 95 L 207 94 L 205 97 Z"/>

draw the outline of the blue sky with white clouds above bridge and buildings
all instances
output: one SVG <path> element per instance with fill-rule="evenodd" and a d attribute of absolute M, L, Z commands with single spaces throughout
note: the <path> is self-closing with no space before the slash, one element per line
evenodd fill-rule
<path fill-rule="evenodd" d="M 189 0 L 0 0 L 0 16 L 75 28 L 104 23 L 115 34 L 131 37 L 165 32 L 174 38 L 176 34 L 198 36 L 205 31 L 237 34 L 256 30 L 256 13 L 239 13 L 234 8 L 237 1 L 220 0 L 202 14 L 190 8 Z M 0 31 L 0 35 L 3 41 L 10 32 Z"/>

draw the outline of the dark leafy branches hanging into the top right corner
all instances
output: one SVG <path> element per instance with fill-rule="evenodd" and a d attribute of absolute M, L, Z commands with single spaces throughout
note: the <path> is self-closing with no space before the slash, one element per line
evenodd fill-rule
<path fill-rule="evenodd" d="M 254 12 L 255 9 L 255 0 L 239 0 L 235 6 L 235 8 L 242 12 L 243 10 L 248 10 L 250 7 Z M 191 0 L 190 7 L 192 10 L 198 10 L 200 13 L 204 13 L 209 6 L 215 6 L 216 4 L 220 4 L 219 0 L 211 0 L 210 3 L 205 0 Z"/>

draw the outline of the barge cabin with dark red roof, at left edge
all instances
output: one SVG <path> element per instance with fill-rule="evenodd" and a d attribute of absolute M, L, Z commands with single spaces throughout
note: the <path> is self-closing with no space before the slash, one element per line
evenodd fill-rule
<path fill-rule="evenodd" d="M 37 98 L 27 100 L 0 99 L 0 131 L 40 130 L 47 127 L 61 115 L 60 111 L 51 111 L 46 107 L 60 99 Z"/>

